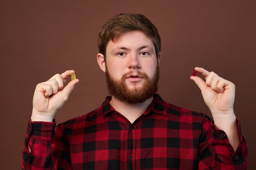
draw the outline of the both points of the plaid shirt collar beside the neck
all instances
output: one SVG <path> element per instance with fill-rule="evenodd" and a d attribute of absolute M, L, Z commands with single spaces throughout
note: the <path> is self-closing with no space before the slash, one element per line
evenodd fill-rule
<path fill-rule="evenodd" d="M 146 112 L 144 112 L 144 115 L 150 113 L 151 110 L 155 113 L 165 115 L 166 102 L 164 102 L 164 100 L 158 94 L 154 94 L 153 97 L 154 97 L 153 101 L 148 106 L 148 109 L 146 110 Z M 111 96 L 107 96 L 105 101 L 101 104 L 101 113 L 104 119 L 108 113 L 115 110 L 109 103 L 111 101 L 111 98 L 112 98 Z"/>

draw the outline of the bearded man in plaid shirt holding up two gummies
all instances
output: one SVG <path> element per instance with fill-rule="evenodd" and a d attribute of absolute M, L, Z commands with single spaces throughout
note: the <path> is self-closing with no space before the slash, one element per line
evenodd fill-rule
<path fill-rule="evenodd" d="M 196 67 L 191 76 L 207 115 L 164 102 L 157 94 L 160 37 L 139 14 L 111 18 L 99 33 L 97 61 L 106 98 L 96 110 L 56 127 L 54 117 L 78 79 L 56 74 L 36 86 L 27 129 L 24 170 L 204 170 L 247 168 L 247 147 L 233 110 L 233 83 Z M 61 91 L 61 89 L 63 89 Z"/>

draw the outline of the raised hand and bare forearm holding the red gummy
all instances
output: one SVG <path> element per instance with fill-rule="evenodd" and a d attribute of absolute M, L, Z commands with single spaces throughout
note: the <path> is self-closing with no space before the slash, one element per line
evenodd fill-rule
<path fill-rule="evenodd" d="M 195 70 L 204 76 L 205 82 L 197 76 L 191 76 L 190 79 L 200 88 L 204 102 L 213 116 L 214 124 L 217 128 L 226 132 L 229 143 L 236 150 L 239 144 L 239 137 L 233 109 L 235 85 L 204 68 L 195 67 Z"/>

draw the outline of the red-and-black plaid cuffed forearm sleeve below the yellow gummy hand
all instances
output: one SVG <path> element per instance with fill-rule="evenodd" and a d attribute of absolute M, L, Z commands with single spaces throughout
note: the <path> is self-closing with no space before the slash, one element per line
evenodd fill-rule
<path fill-rule="evenodd" d="M 55 170 L 54 132 L 56 122 L 33 121 L 29 119 L 22 151 L 22 170 Z M 29 153 L 29 148 L 31 152 Z"/>

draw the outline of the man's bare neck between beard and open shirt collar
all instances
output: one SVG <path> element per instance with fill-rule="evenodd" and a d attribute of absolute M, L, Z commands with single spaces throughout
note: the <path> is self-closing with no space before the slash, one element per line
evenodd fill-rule
<path fill-rule="evenodd" d="M 152 101 L 153 97 L 150 97 L 143 103 L 129 104 L 121 102 L 115 99 L 114 96 L 112 96 L 110 104 L 113 108 L 115 108 L 116 111 L 118 111 L 121 115 L 126 117 L 126 119 L 128 119 L 128 121 L 130 121 L 130 123 L 132 124 L 138 117 L 140 117 L 147 110 L 148 106 Z"/>

